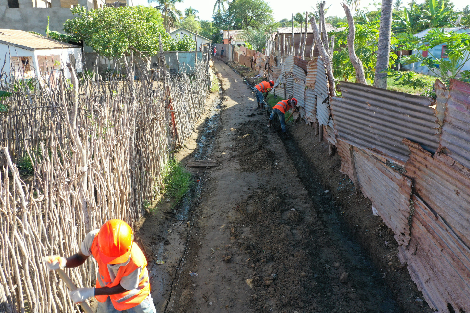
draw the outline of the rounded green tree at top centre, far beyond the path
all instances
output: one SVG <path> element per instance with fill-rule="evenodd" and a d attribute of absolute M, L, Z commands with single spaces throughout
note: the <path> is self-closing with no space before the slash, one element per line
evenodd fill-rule
<path fill-rule="evenodd" d="M 235 28 L 260 28 L 274 22 L 273 9 L 264 0 L 233 0 L 228 16 Z"/>

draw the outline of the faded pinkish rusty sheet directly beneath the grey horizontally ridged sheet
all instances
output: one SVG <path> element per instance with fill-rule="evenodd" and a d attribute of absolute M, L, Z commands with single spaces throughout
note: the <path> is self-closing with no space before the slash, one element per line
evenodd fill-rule
<path fill-rule="evenodd" d="M 360 190 L 393 230 L 397 243 L 406 246 L 410 240 L 411 180 L 357 147 L 354 147 L 354 163 Z"/>

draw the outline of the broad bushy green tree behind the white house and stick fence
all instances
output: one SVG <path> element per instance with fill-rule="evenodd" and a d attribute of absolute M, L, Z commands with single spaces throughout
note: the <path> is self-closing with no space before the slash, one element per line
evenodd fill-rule
<path fill-rule="evenodd" d="M 109 58 L 122 57 L 131 51 L 130 46 L 155 55 L 160 50 L 158 35 L 162 35 L 164 45 L 170 39 L 155 8 L 127 6 L 88 11 L 77 6 L 71 8 L 71 13 L 78 16 L 65 21 L 64 31 Z"/>

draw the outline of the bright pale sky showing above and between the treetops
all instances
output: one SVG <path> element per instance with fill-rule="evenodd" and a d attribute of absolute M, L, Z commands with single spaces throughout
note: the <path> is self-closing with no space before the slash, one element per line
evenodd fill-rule
<path fill-rule="evenodd" d="M 408 0 L 402 0 L 405 3 L 411 2 Z M 305 12 L 313 11 L 311 8 L 312 5 L 316 3 L 316 1 L 307 1 L 305 0 L 266 0 L 267 3 L 273 8 L 274 11 L 274 19 L 276 21 L 280 21 L 283 18 L 290 19 L 291 13 L 296 14 L 297 12 Z M 345 16 L 345 11 L 341 6 L 343 1 L 338 0 L 326 0 L 326 6 L 329 8 L 326 16 L 330 15 L 337 15 L 337 16 Z M 373 2 L 380 2 L 380 0 L 371 1 L 371 0 L 362 0 L 361 2 L 364 3 L 365 8 L 369 7 L 371 10 L 375 9 Z M 417 0 L 416 3 L 422 3 L 423 1 Z M 464 6 L 469 4 L 469 0 L 454 0 L 455 8 L 462 9 Z M 192 7 L 199 11 L 197 14 L 199 19 L 201 20 L 211 20 L 212 10 L 214 8 L 215 0 L 184 0 L 182 3 L 176 4 L 176 8 L 184 12 L 185 8 Z M 134 5 L 149 5 L 147 0 L 133 0 Z M 157 6 L 154 4 L 153 6 Z"/>

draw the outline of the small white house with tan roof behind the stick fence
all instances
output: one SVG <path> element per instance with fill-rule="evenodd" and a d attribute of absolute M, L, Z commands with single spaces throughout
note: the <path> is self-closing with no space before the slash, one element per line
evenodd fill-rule
<path fill-rule="evenodd" d="M 27 31 L 0 29 L 0 64 L 7 77 L 38 78 L 39 82 L 58 77 L 61 69 L 71 62 L 81 72 L 81 47 L 32 34 Z M 68 69 L 64 70 L 70 78 Z M 2 77 L 5 78 L 5 77 Z"/>

